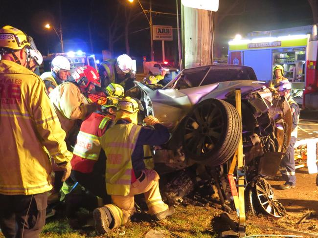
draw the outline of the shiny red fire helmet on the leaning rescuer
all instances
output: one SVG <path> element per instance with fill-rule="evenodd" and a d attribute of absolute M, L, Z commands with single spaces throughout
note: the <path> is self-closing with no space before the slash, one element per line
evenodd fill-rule
<path fill-rule="evenodd" d="M 90 65 L 78 67 L 71 76 L 82 88 L 87 88 L 90 83 L 100 87 L 100 78 L 97 70 Z"/>

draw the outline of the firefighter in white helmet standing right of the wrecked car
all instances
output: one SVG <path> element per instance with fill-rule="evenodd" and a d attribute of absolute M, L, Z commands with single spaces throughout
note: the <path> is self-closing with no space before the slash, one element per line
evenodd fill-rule
<path fill-rule="evenodd" d="M 292 117 L 293 117 L 293 125 L 292 125 L 293 131 L 291 134 L 291 140 L 287 148 L 286 155 L 283 157 L 281 161 L 281 166 L 285 169 L 284 171 L 281 171 L 281 173 L 283 177 L 286 179 L 285 184 L 279 186 L 279 188 L 282 190 L 295 188 L 296 186 L 294 145 L 297 138 L 297 125 L 299 121 L 300 110 L 299 110 L 299 106 L 291 97 L 291 94 L 290 94 L 291 89 L 292 89 L 292 86 L 287 79 L 280 81 L 276 87 L 276 90 L 279 93 L 279 95 L 281 97 L 286 98 L 286 100 L 288 101 L 291 107 Z"/>

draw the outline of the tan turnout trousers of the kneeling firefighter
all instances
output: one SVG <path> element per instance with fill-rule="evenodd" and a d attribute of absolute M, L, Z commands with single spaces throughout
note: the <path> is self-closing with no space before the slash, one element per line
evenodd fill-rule
<path fill-rule="evenodd" d="M 114 218 L 114 226 L 119 227 L 127 223 L 135 212 L 134 195 L 144 194 L 149 214 L 154 215 L 168 209 L 159 191 L 159 175 L 154 170 L 143 170 L 140 177 L 131 185 L 127 196 L 112 195 L 113 204 L 105 205 Z"/>

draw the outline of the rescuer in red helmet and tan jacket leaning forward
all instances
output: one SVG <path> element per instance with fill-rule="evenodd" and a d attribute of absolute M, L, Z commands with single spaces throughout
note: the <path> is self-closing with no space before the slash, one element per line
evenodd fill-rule
<path fill-rule="evenodd" d="M 67 133 L 66 143 L 70 151 L 75 144 L 81 120 L 84 120 L 98 107 L 97 104 L 90 103 L 85 96 L 95 85 L 100 85 L 97 71 L 91 66 L 82 66 L 73 72 L 67 82 L 55 87 L 49 94 L 62 129 Z M 53 171 L 57 179 L 54 179 L 54 191 L 49 197 L 49 203 L 58 200 L 59 191 L 63 185 L 59 179 L 62 173 L 54 164 Z"/>

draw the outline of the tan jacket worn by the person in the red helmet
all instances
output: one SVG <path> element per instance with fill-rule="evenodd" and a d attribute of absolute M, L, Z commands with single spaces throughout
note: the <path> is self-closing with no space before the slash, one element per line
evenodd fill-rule
<path fill-rule="evenodd" d="M 84 119 L 95 110 L 79 87 L 71 82 L 65 82 L 54 88 L 49 94 L 49 98 L 55 106 L 56 114 L 67 134 L 73 128 L 75 120 Z"/>

